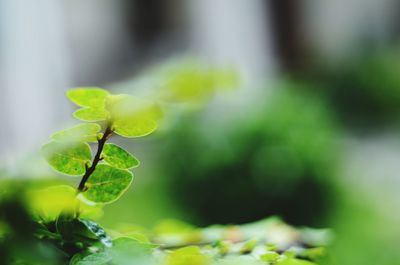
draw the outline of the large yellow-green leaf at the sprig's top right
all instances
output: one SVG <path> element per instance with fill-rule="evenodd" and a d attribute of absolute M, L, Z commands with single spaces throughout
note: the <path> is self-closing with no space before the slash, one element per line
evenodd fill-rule
<path fill-rule="evenodd" d="M 111 112 L 112 129 L 123 137 L 141 137 L 157 128 L 162 113 L 158 105 L 128 95 L 115 95 L 107 99 Z"/>

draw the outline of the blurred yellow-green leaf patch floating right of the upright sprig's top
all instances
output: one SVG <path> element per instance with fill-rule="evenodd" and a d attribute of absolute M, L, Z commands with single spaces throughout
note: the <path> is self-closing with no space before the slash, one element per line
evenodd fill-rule
<path fill-rule="evenodd" d="M 125 91 L 140 91 L 172 107 L 196 111 L 219 92 L 238 88 L 238 72 L 229 66 L 209 65 L 194 58 L 175 58 L 146 69 L 140 77 L 118 84 Z"/>

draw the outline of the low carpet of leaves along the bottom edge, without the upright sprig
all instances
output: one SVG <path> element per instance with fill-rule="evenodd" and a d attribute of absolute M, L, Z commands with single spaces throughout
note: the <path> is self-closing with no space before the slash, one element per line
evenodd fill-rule
<path fill-rule="evenodd" d="M 295 229 L 278 218 L 206 228 L 166 220 L 146 232 L 106 233 L 82 218 L 37 222 L 15 198 L 3 200 L 0 212 L 1 264 L 315 265 L 331 237 L 327 230 Z"/>

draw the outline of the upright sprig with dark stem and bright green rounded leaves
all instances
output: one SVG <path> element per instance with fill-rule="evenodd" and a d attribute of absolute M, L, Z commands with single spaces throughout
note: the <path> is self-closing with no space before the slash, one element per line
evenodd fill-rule
<path fill-rule="evenodd" d="M 101 88 L 72 89 L 67 97 L 80 107 L 73 116 L 85 123 L 53 134 L 42 153 L 58 172 L 81 176 L 77 194 L 92 203 L 111 203 L 130 186 L 130 169 L 139 166 L 139 160 L 107 141 L 114 134 L 135 138 L 152 133 L 161 110 L 153 102 Z M 95 151 L 89 143 L 96 144 Z"/>

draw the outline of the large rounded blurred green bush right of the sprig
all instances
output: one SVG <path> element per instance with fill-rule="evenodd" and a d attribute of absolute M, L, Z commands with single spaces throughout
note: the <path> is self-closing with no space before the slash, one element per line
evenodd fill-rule
<path fill-rule="evenodd" d="M 224 126 L 206 113 L 183 115 L 158 145 L 159 178 L 171 179 L 176 205 L 201 225 L 271 214 L 321 224 L 333 206 L 339 128 L 328 105 L 305 90 L 282 82 Z"/>

